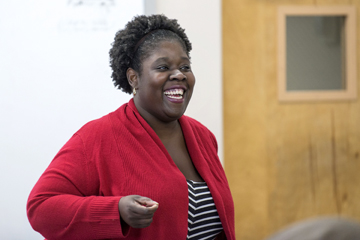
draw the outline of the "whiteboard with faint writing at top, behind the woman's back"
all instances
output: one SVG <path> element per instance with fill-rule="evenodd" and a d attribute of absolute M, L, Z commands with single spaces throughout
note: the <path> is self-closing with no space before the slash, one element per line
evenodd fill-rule
<path fill-rule="evenodd" d="M 113 86 L 108 52 L 143 5 L 0 2 L 0 239 L 43 239 L 26 217 L 35 182 L 77 129 L 130 99 Z"/>

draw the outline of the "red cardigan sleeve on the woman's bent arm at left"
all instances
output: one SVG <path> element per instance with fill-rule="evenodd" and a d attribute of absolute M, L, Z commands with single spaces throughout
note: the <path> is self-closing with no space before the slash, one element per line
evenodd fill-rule
<path fill-rule="evenodd" d="M 124 238 L 121 196 L 99 196 L 96 164 L 74 135 L 55 156 L 30 193 L 27 214 L 34 230 L 52 239 Z"/>

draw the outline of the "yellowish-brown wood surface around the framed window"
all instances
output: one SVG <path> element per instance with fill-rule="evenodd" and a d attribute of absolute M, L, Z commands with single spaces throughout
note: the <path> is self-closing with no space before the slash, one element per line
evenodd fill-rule
<path fill-rule="evenodd" d="M 223 1 L 224 160 L 240 240 L 314 216 L 360 221 L 360 101 L 278 101 L 282 5 L 353 5 L 360 16 L 357 0 Z"/>

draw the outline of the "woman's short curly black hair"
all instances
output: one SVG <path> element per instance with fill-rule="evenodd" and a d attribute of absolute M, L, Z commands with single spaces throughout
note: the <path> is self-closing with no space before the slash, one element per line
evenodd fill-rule
<path fill-rule="evenodd" d="M 109 52 L 115 87 L 131 94 L 127 69 L 130 67 L 140 73 L 142 61 L 163 40 L 177 40 L 190 58 L 191 43 L 176 19 L 160 14 L 136 16 L 126 24 L 125 29 L 118 31 Z"/>

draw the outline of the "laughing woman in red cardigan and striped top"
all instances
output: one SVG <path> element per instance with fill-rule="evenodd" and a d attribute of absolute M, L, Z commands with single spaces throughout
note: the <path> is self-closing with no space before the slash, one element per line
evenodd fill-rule
<path fill-rule="evenodd" d="M 29 221 L 47 239 L 235 239 L 214 135 L 183 116 L 195 77 L 176 20 L 138 16 L 110 50 L 129 103 L 84 125 L 33 188 Z"/>

